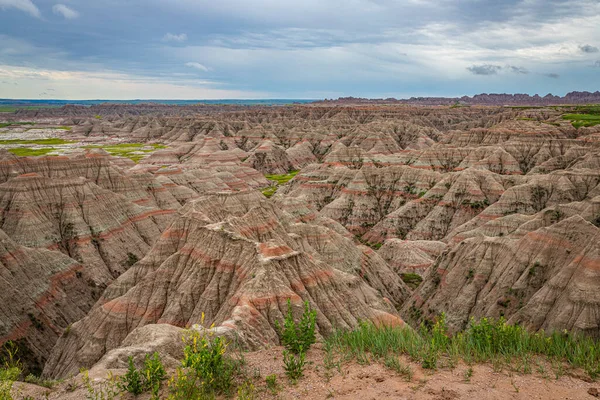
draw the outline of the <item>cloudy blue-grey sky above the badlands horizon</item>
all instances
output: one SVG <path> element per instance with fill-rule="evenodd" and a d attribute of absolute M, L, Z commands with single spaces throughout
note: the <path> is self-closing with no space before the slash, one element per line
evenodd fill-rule
<path fill-rule="evenodd" d="M 600 0 L 0 0 L 0 98 L 600 90 Z"/>

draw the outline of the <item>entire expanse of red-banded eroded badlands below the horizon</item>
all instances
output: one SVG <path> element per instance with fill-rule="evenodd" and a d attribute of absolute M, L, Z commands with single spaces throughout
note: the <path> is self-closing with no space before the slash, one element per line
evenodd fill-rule
<path fill-rule="evenodd" d="M 441 313 L 600 337 L 585 109 L 349 102 L 0 116 L 0 343 L 52 378 L 174 360 L 201 319 L 266 349 L 288 300 L 319 337 Z"/>

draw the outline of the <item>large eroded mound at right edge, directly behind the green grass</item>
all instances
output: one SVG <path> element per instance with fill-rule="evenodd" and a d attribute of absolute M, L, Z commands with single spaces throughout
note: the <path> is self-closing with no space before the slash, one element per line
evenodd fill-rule
<path fill-rule="evenodd" d="M 600 229 L 579 215 L 514 237 L 476 236 L 446 251 L 403 307 L 419 322 L 440 312 L 459 330 L 505 316 L 532 330 L 600 337 Z"/>

